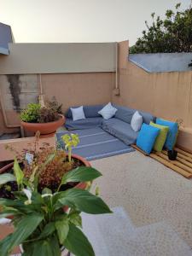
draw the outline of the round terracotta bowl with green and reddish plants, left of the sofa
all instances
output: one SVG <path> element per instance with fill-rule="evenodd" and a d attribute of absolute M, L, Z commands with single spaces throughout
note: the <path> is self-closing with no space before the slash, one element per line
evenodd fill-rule
<path fill-rule="evenodd" d="M 40 131 L 41 137 L 52 137 L 65 122 L 65 117 L 61 114 L 61 106 L 57 107 L 53 102 L 49 102 L 45 107 L 38 103 L 28 104 L 26 109 L 21 111 L 20 119 L 20 125 L 24 130 L 33 134 Z"/>

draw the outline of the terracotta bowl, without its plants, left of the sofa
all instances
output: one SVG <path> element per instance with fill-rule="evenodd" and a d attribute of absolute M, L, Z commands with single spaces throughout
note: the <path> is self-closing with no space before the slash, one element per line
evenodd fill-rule
<path fill-rule="evenodd" d="M 64 115 L 58 113 L 59 119 L 54 122 L 49 123 L 27 123 L 20 122 L 20 125 L 23 126 L 24 130 L 32 131 L 34 134 L 36 131 L 40 131 L 40 137 L 52 137 L 55 134 L 55 131 L 65 123 Z"/>

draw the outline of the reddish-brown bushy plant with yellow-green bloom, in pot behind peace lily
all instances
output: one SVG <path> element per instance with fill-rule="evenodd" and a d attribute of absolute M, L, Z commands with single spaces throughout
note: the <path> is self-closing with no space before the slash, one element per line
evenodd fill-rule
<path fill-rule="evenodd" d="M 76 147 L 79 144 L 79 137 L 76 134 L 64 135 L 62 137 L 63 142 L 66 143 L 65 148 L 67 152 L 62 148 L 49 147 L 49 143 L 44 143 L 43 146 L 38 149 L 39 135 L 37 132 L 34 143 L 28 144 L 27 148 L 24 148 L 22 152 L 17 152 L 15 148 L 7 145 L 6 148 L 12 151 L 16 155 L 16 159 L 20 164 L 20 168 L 26 179 L 32 176 L 32 173 L 38 173 L 38 191 L 42 191 L 44 188 L 49 188 L 53 192 L 56 192 L 61 184 L 61 178 L 63 175 L 79 166 L 90 167 L 90 163 L 83 157 L 72 154 L 72 147 Z M 9 163 L 0 169 L 0 173 L 4 173 L 5 176 L 9 174 L 15 174 L 13 169 L 14 162 Z M 89 169 L 86 169 L 89 172 Z M 3 178 L 0 176 L 2 182 Z M 9 181 L 5 185 L 1 184 L 0 180 L 0 198 L 14 199 L 12 191 L 17 190 L 17 184 L 15 181 Z M 87 183 L 67 183 L 62 185 L 59 189 L 67 189 L 74 187 L 85 189 Z"/>

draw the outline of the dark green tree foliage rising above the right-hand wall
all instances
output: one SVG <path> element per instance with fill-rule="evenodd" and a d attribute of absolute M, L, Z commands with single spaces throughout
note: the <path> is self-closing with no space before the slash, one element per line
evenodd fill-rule
<path fill-rule="evenodd" d="M 137 43 L 130 48 L 130 53 L 171 53 L 192 51 L 192 9 L 180 10 L 177 3 L 176 10 L 166 10 L 166 19 L 160 16 L 152 17 L 152 25 L 145 21 L 147 30 L 137 39 Z"/>

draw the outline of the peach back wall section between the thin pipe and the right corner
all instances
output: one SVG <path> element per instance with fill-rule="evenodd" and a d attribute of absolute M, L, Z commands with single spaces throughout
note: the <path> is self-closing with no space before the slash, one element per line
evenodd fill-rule
<path fill-rule="evenodd" d="M 113 73 L 43 74 L 46 98 L 55 96 L 63 110 L 78 105 L 100 104 L 111 101 Z"/>

